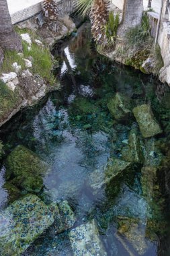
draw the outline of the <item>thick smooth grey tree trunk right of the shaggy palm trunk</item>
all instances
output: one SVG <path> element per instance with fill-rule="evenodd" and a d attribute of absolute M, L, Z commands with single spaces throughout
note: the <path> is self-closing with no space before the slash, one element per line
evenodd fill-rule
<path fill-rule="evenodd" d="M 130 28 L 141 24 L 143 13 L 142 0 L 124 0 L 122 24 L 118 29 L 118 36 L 124 37 Z"/>

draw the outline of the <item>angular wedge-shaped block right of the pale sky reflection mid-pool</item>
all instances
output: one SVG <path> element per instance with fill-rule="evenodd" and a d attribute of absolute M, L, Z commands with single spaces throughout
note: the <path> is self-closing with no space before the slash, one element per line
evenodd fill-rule
<path fill-rule="evenodd" d="M 131 166 L 130 162 L 125 162 L 118 158 L 110 158 L 108 164 L 103 168 L 103 170 L 94 170 L 89 175 L 89 186 L 95 193 L 97 191 L 104 189 L 116 189 L 116 186 L 110 185 L 115 182 L 120 185 L 120 178 L 124 176 L 126 170 Z"/>

